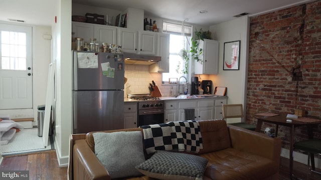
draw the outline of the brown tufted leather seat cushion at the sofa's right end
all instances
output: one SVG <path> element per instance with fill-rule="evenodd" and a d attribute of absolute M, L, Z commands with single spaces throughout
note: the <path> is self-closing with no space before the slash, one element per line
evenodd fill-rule
<path fill-rule="evenodd" d="M 201 156 L 209 159 L 204 176 L 210 179 L 266 179 L 278 172 L 278 166 L 272 159 L 235 148 L 204 153 Z"/>

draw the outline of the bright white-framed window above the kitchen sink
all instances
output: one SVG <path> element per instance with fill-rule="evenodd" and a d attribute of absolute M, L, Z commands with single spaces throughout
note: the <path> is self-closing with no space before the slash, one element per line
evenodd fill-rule
<path fill-rule="evenodd" d="M 163 21 L 163 32 L 170 33 L 170 72 L 162 73 L 162 81 L 169 82 L 170 78 L 179 79 L 181 76 L 188 78 L 190 60 L 184 60 L 182 55 L 184 50 L 189 51 L 190 49 L 192 26 Z M 189 56 L 189 53 L 185 55 Z"/>

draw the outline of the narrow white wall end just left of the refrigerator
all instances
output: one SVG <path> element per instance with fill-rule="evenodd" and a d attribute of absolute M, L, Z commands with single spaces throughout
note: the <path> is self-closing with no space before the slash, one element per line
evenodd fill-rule
<path fill-rule="evenodd" d="M 54 114 L 55 147 L 60 166 L 68 164 L 72 132 L 71 0 L 58 0 L 57 23 L 53 22 L 53 60 L 56 63 Z M 54 19 L 54 17 L 53 17 Z"/>

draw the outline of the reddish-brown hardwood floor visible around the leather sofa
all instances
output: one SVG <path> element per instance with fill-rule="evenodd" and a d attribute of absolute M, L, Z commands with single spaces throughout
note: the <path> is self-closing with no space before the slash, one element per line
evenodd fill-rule
<path fill-rule="evenodd" d="M 290 179 L 288 160 L 281 157 L 279 180 Z M 58 167 L 55 150 L 21 156 L 5 156 L 0 165 L 0 171 L 2 170 L 29 170 L 30 180 L 67 179 L 67 167 Z M 294 174 L 305 180 L 321 179 L 320 174 L 309 171 L 306 164 L 296 161 L 294 161 Z"/>

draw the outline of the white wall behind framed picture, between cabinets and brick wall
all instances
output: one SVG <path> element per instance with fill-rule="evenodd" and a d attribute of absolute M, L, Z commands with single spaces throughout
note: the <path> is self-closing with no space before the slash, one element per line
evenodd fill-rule
<path fill-rule="evenodd" d="M 246 87 L 248 66 L 248 16 L 210 26 L 215 40 L 220 41 L 219 46 L 219 73 L 209 75 L 215 86 L 227 87 L 228 103 L 242 103 L 246 109 Z M 240 69 L 223 70 L 224 42 L 241 40 Z M 232 120 L 229 122 L 233 122 Z"/>

